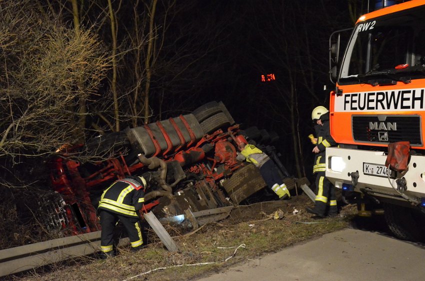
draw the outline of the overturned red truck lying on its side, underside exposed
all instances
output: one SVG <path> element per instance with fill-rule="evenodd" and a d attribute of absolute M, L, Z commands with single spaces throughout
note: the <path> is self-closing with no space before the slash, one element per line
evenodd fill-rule
<path fill-rule="evenodd" d="M 264 188 L 266 183 L 252 164 L 236 160 L 238 144 L 246 139 L 255 141 L 273 159 L 289 190 L 296 184 L 308 184 L 306 178 L 289 176 L 281 164 L 273 146 L 278 140 L 275 133 L 256 127 L 241 130 L 224 104 L 212 101 L 190 114 L 88 141 L 85 153 L 103 155 L 97 162 L 72 160 L 64 149 L 62 157 L 50 163 L 56 192 L 44 198 L 44 222 L 69 234 L 100 230 L 96 207 L 101 192 L 126 175 L 142 175 L 148 181 L 142 210 L 151 210 L 158 217 L 249 199 L 277 199 Z"/>

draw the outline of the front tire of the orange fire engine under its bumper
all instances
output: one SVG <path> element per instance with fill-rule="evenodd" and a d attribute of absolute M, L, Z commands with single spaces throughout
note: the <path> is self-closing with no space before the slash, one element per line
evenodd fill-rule
<path fill-rule="evenodd" d="M 385 204 L 384 211 L 385 221 L 394 236 L 407 241 L 423 240 L 425 235 L 419 222 L 420 219 L 423 220 L 422 214 L 413 209 L 393 204 Z"/>

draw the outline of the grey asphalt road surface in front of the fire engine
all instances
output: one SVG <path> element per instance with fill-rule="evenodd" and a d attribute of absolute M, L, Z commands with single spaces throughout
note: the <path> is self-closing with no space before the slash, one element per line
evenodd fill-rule
<path fill-rule="evenodd" d="M 425 245 L 344 229 L 199 280 L 424 280 Z"/>

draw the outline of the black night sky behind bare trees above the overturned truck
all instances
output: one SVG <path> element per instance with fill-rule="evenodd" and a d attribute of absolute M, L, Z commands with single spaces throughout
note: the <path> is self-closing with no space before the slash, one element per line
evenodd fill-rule
<path fill-rule="evenodd" d="M 312 146 L 307 138 L 313 133 L 311 110 L 317 105 L 328 107 L 328 91 L 323 91 L 323 85 L 331 88 L 328 39 L 331 32 L 352 26 L 349 1 L 194 2 L 171 29 L 188 25 L 184 27 L 191 30 L 188 38 L 200 38 L 203 44 L 186 48 L 208 46 L 212 50 L 193 64 L 195 73 L 188 74 L 187 84 L 170 85 L 162 109 L 175 114 L 222 100 L 242 127 L 257 126 L 280 136 L 276 146 L 292 173 L 292 134 L 299 133 L 300 157 L 311 173 Z M 361 7 L 361 1 L 351 2 Z M 267 73 L 273 73 L 276 80 L 261 82 L 261 74 Z M 173 86 L 178 89 L 174 91 Z M 290 126 L 292 105 L 299 132 Z"/>

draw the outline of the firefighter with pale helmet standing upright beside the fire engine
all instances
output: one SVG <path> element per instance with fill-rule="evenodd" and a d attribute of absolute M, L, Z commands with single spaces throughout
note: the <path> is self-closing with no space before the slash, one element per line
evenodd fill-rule
<path fill-rule="evenodd" d="M 314 199 L 314 208 L 306 208 L 310 213 L 319 217 L 327 215 L 336 215 L 338 208 L 336 206 L 335 189 L 325 176 L 325 149 L 329 146 L 335 146 L 336 142 L 330 136 L 329 130 L 329 111 L 324 106 L 317 106 L 311 113 L 311 119 L 317 124 L 316 146 L 313 148 L 314 157 L 313 174 L 316 173 L 316 197 Z"/>

